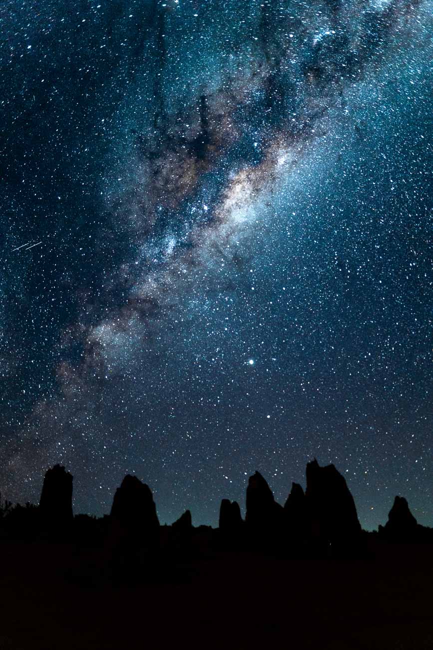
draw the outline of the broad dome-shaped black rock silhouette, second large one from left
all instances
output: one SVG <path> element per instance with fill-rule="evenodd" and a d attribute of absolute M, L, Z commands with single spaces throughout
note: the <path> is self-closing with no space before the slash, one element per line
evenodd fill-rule
<path fill-rule="evenodd" d="M 154 545 L 159 531 L 151 489 L 136 476 L 127 475 L 116 489 L 110 519 L 112 528 L 134 538 L 134 543 Z"/>

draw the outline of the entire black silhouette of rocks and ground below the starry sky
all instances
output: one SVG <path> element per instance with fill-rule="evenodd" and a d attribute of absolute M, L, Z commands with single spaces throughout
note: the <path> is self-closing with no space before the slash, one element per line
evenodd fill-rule
<path fill-rule="evenodd" d="M 333 465 L 284 507 L 256 472 L 245 521 L 224 499 L 217 529 L 160 526 L 136 476 L 74 517 L 72 486 L 56 465 L 39 506 L 1 502 L 0 650 L 433 649 L 433 530 L 396 497 L 363 531 Z"/>

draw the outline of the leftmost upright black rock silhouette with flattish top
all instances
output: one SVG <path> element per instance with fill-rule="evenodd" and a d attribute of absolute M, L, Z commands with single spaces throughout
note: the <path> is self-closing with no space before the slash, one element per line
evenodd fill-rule
<path fill-rule="evenodd" d="M 45 474 L 39 502 L 44 526 L 59 529 L 72 523 L 72 483 L 72 474 L 60 465 L 55 465 Z"/>

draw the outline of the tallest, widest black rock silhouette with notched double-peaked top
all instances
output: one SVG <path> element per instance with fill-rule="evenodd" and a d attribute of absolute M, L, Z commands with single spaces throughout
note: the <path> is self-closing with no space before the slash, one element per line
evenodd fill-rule
<path fill-rule="evenodd" d="M 344 477 L 334 467 L 306 466 L 306 508 L 312 535 L 332 545 L 352 543 L 361 532 L 353 496 Z"/>

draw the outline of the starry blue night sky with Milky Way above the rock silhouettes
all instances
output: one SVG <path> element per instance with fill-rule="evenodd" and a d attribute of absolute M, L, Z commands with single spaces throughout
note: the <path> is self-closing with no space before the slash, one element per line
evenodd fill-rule
<path fill-rule="evenodd" d="M 431 5 L 5 0 L 0 490 L 433 525 Z"/>

